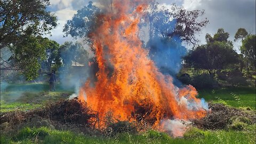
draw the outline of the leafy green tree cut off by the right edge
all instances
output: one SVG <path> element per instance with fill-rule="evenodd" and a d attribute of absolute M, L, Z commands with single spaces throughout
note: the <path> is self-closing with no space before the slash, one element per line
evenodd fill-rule
<path fill-rule="evenodd" d="M 256 35 L 249 35 L 242 41 L 241 53 L 244 55 L 246 61 L 247 73 L 250 73 L 250 67 L 255 70 L 255 47 Z"/>

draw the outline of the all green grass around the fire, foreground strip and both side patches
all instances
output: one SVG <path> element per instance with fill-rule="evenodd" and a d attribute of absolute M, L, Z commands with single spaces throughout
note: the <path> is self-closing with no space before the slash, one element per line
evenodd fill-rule
<path fill-rule="evenodd" d="M 1 113 L 41 107 L 49 101 L 67 99 L 72 93 L 72 90 L 63 90 L 58 86 L 56 92 L 49 92 L 46 84 L 10 85 L 1 92 Z M 199 91 L 199 98 L 255 111 L 255 88 L 202 90 Z M 242 130 L 212 131 L 191 127 L 183 138 L 171 138 L 154 130 L 137 134 L 119 133 L 110 137 L 47 126 L 23 127 L 11 135 L 1 134 L 1 143 L 255 143 L 255 124 L 245 125 Z"/>

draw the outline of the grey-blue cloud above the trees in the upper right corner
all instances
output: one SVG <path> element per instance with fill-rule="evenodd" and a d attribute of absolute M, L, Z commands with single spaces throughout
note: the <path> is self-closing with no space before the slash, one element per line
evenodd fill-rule
<path fill-rule="evenodd" d="M 229 35 L 229 40 L 234 40 L 238 28 L 245 28 L 255 34 L 255 1 L 254 0 L 184 0 L 183 7 L 187 10 L 205 10 L 204 17 L 209 19 L 209 24 L 203 29 L 198 38 L 205 43 L 205 34 L 217 33 L 218 28 L 223 28 Z M 237 43 L 234 44 L 238 49 Z"/>

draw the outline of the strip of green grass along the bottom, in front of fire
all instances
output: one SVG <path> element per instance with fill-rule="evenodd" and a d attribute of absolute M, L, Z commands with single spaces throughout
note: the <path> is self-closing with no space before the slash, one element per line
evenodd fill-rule
<path fill-rule="evenodd" d="M 166 133 L 150 130 L 140 134 L 120 133 L 115 137 L 100 137 L 47 127 L 25 127 L 17 134 L 1 135 L 1 143 L 254 143 L 248 131 L 202 131 L 193 128 L 184 138 L 171 138 Z"/>

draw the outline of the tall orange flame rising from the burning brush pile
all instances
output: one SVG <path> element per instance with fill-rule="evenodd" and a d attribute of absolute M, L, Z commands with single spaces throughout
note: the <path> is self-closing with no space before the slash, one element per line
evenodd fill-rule
<path fill-rule="evenodd" d="M 79 99 L 86 100 L 100 118 L 108 111 L 123 121 L 142 114 L 153 126 L 166 118 L 203 117 L 205 110 L 195 88 L 189 85 L 179 90 L 142 48 L 138 23 L 149 2 L 116 0 L 112 9 L 98 15 L 98 27 L 91 34 L 99 67 L 97 81 L 89 79 L 81 87 Z M 188 101 L 194 104 L 188 105 Z"/>

